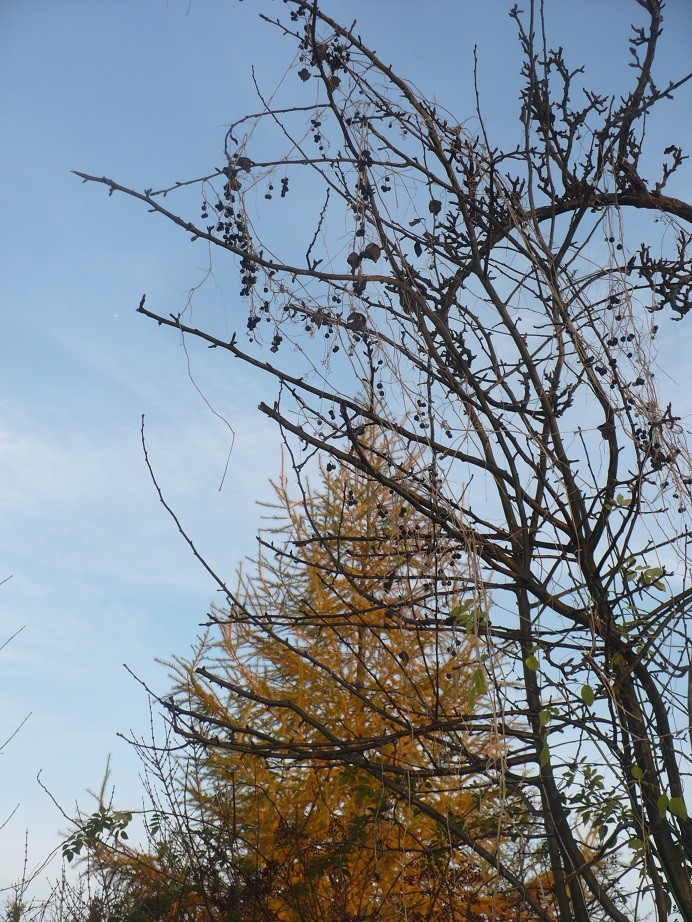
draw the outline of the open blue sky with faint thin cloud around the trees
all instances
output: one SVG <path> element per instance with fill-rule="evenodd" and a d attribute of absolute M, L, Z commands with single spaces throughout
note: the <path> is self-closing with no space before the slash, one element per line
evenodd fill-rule
<path fill-rule="evenodd" d="M 332 0 L 403 76 L 473 114 L 477 43 L 485 112 L 516 139 L 519 52 L 505 0 Z M 521 5 L 521 4 L 520 4 Z M 256 410 L 271 382 L 192 348 L 188 375 L 170 331 L 135 313 L 143 292 L 176 312 L 209 254 L 124 197 L 83 185 L 78 169 L 160 187 L 223 164 L 224 127 L 255 111 L 254 65 L 273 88 L 293 46 L 258 20 L 281 4 L 246 0 L 0 0 L 0 887 L 88 806 L 113 753 L 116 800 L 137 803 L 137 762 L 116 734 L 145 733 L 156 657 L 184 654 L 215 597 L 159 505 L 139 442 L 167 498 L 227 579 L 254 550 L 277 433 Z M 611 91 L 627 70 L 635 0 L 547 0 L 555 44 Z M 660 83 L 689 66 L 692 5 L 669 0 Z M 686 113 L 686 117 L 685 117 Z M 663 107 L 655 146 L 692 148 L 692 93 Z M 687 176 L 689 178 L 689 171 Z M 671 193 L 675 194 L 671 188 Z M 685 190 L 677 189 L 680 195 Z M 689 194 L 689 188 L 687 189 Z M 233 266 L 215 258 L 196 304 L 242 332 Z M 684 368 L 675 325 L 670 367 Z M 688 324 L 689 326 L 689 324 Z M 689 353 L 688 353 L 689 354 Z M 688 375 L 689 377 L 689 375 Z M 684 383 L 684 382 L 683 382 Z M 219 491 L 236 433 L 228 473 Z M 54 868 L 54 873 L 56 869 Z"/>

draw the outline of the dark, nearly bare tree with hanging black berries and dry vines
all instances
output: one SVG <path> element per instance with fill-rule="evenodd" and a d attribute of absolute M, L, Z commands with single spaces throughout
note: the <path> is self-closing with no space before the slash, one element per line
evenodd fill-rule
<path fill-rule="evenodd" d="M 550 48 L 542 5 L 512 9 L 521 140 L 503 150 L 480 108 L 459 121 L 318 0 L 287 0 L 285 21 L 274 7 L 263 18 L 299 50 L 295 95 L 283 105 L 258 90 L 259 111 L 227 133 L 226 165 L 192 181 L 201 221 L 170 205 L 191 183 L 138 192 L 78 174 L 235 258 L 249 342 L 144 298 L 139 311 L 276 381 L 260 410 L 281 427 L 299 481 L 319 455 L 384 486 L 384 516 L 422 517 L 428 582 L 444 586 L 450 553 L 463 555 L 468 604 L 413 606 L 412 618 L 431 619 L 440 643 L 458 631 L 483 641 L 483 720 L 438 696 L 409 728 L 429 765 L 405 782 L 377 745 L 320 731 L 318 703 L 304 719 L 322 739 L 307 748 L 179 702 L 176 725 L 209 747 L 351 765 L 392 791 L 405 783 L 452 852 L 474 852 L 521 894 L 527 918 L 560 922 L 630 922 L 652 906 L 657 919 L 692 920 L 692 473 L 655 377 L 658 325 L 692 307 L 692 206 L 666 191 L 685 160 L 675 145 L 657 179 L 640 172 L 648 116 L 689 78 L 657 85 L 663 4 L 637 4 L 621 97 L 586 88 Z M 255 141 L 270 128 L 280 155 Z M 273 231 L 282 198 L 314 206 L 304 243 Z M 373 457 L 377 444 L 385 456 Z M 316 527 L 310 540 L 348 579 L 338 536 Z M 222 586 L 224 617 L 258 618 Z M 372 586 L 374 607 L 386 610 L 387 591 Z M 232 692 L 249 694 L 242 682 Z M 396 709 L 388 717 L 398 732 Z M 477 726 L 499 745 L 483 764 L 449 745 Z M 432 769 L 476 772 L 523 799 L 544 892 L 517 876 L 501 834 L 489 849 L 436 804 L 422 784 Z"/>

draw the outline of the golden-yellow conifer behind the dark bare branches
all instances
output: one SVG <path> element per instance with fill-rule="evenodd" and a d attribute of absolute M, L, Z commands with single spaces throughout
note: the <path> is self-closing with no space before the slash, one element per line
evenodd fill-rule
<path fill-rule="evenodd" d="M 369 454 L 387 463 L 387 446 Z M 214 745 L 170 761 L 141 748 L 157 781 L 149 847 L 97 818 L 70 854 L 87 847 L 111 911 L 130 920 L 550 918 L 537 856 L 510 840 L 513 822 L 528 828 L 525 805 L 497 787 L 485 610 L 466 560 L 391 489 L 333 467 L 318 478 L 298 501 L 275 486 L 234 606 L 175 662 L 175 729 L 198 741 L 214 728 Z M 451 818 L 533 878 L 522 890 L 542 912 L 455 839 Z"/>

